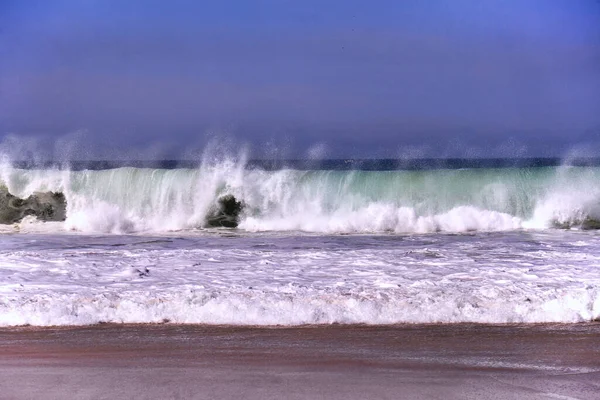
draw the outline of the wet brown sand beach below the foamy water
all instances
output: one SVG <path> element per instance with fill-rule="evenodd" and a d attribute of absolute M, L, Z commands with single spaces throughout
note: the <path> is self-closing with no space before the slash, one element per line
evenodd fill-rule
<path fill-rule="evenodd" d="M 600 399 L 600 323 L 0 329 L 1 399 Z"/>

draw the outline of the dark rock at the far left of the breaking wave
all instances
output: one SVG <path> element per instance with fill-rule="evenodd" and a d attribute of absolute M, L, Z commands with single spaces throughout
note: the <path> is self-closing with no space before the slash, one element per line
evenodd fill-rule
<path fill-rule="evenodd" d="M 40 221 L 64 221 L 67 217 L 65 195 L 60 192 L 35 192 L 21 199 L 0 186 L 0 224 L 13 224 L 28 215 Z"/>

